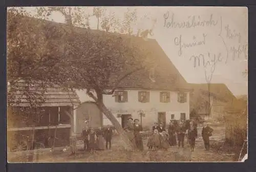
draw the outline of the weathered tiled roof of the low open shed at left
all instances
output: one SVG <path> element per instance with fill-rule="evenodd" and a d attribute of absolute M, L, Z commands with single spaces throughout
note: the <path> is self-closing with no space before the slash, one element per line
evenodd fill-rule
<path fill-rule="evenodd" d="M 28 106 L 29 102 L 24 93 L 24 89 L 26 87 L 26 83 L 23 80 L 19 80 L 15 84 L 15 89 L 12 90 L 12 94 L 14 98 L 11 100 L 11 103 L 14 106 Z M 71 90 L 63 90 L 59 85 L 51 84 L 46 88 L 46 92 L 44 89 L 40 87 L 40 83 L 33 83 L 29 85 L 29 92 L 31 94 L 43 95 L 45 98 L 45 102 L 41 104 L 41 106 L 76 106 L 80 103 L 77 94 Z M 37 101 L 40 101 L 39 99 Z"/>

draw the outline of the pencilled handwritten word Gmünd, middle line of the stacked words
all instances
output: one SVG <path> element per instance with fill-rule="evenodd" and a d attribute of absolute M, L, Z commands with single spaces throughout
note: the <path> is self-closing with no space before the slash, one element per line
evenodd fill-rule
<path fill-rule="evenodd" d="M 203 33 L 203 40 L 200 40 L 200 41 L 197 40 L 196 36 L 193 36 L 193 42 L 189 42 L 189 43 L 182 42 L 182 35 L 180 35 L 179 37 L 175 37 L 174 44 L 176 46 L 179 46 L 178 55 L 181 56 L 183 48 L 186 49 L 186 48 L 205 45 L 205 37 L 206 36 L 207 35 L 205 33 Z"/>

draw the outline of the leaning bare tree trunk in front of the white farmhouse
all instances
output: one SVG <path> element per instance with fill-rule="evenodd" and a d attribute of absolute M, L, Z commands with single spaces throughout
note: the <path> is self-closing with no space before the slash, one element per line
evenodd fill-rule
<path fill-rule="evenodd" d="M 98 97 L 99 98 L 99 97 Z M 99 100 L 99 99 L 98 99 Z M 121 139 L 124 142 L 124 147 L 125 149 L 133 149 L 135 147 L 135 145 L 133 145 L 133 143 L 130 141 L 130 139 L 128 138 L 128 136 L 125 134 L 125 132 L 123 131 L 122 126 L 120 125 L 120 123 L 118 122 L 118 120 L 115 118 L 115 116 L 106 108 L 106 106 L 103 104 L 102 101 L 97 101 L 96 102 L 99 110 L 105 114 L 105 116 L 112 122 L 112 124 L 115 126 L 115 129 L 117 130 L 117 132 L 119 133 Z"/>

